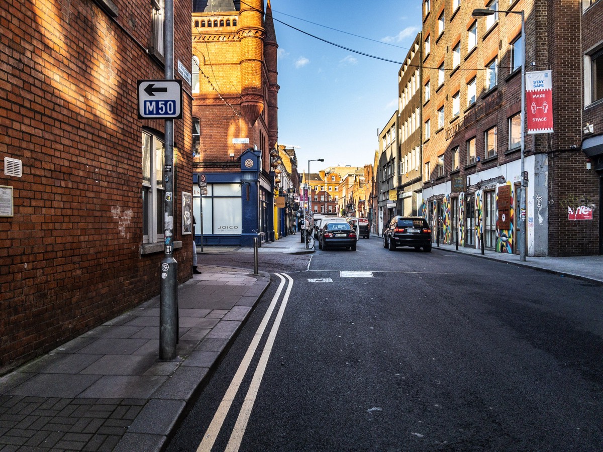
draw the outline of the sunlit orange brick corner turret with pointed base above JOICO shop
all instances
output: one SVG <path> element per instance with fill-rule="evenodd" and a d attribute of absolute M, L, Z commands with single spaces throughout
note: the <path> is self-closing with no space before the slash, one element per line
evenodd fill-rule
<path fill-rule="evenodd" d="M 241 2 L 238 30 L 241 40 L 241 111 L 252 126 L 264 111 L 265 101 L 262 91 L 263 13 L 262 0 Z"/>

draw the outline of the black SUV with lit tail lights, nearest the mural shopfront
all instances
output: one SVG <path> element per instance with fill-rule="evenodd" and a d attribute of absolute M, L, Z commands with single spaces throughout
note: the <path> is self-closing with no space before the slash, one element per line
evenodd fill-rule
<path fill-rule="evenodd" d="M 390 251 L 397 246 L 414 246 L 415 250 L 431 251 L 431 227 L 420 216 L 394 216 L 383 233 L 383 246 Z"/>

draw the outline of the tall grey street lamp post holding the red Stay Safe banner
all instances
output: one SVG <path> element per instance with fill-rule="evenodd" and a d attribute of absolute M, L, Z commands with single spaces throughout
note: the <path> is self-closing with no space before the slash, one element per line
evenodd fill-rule
<path fill-rule="evenodd" d="M 526 21 L 525 11 L 511 11 L 511 10 L 491 10 L 489 8 L 476 8 L 471 14 L 473 17 L 484 17 L 491 16 L 494 13 L 508 13 L 508 14 L 519 14 L 522 18 L 522 111 L 521 111 L 521 171 L 520 181 L 521 186 L 519 189 L 519 218 L 520 221 L 517 223 L 519 229 L 517 230 L 517 242 L 519 242 L 519 260 L 526 260 L 526 180 L 525 180 L 525 110 L 526 110 Z"/>

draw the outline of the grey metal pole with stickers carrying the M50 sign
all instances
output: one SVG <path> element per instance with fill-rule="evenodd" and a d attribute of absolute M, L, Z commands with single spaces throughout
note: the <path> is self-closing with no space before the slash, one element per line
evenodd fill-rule
<path fill-rule="evenodd" d="M 174 0 L 165 2 L 163 24 L 165 78 L 174 79 Z M 163 202 L 165 257 L 161 262 L 159 307 L 159 357 L 174 359 L 178 342 L 178 263 L 174 252 L 174 120 L 165 121 L 165 199 Z"/>

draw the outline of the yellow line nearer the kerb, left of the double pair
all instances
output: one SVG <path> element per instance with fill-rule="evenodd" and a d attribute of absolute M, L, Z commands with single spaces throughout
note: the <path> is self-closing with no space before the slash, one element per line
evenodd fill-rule
<path fill-rule="evenodd" d="M 247 369 L 251 363 L 251 359 L 253 358 L 253 355 L 257 350 L 257 345 L 259 344 L 260 339 L 262 339 L 262 335 L 264 334 L 266 326 L 268 325 L 268 321 L 272 316 L 274 307 L 276 306 L 276 303 L 280 298 L 280 293 L 282 292 L 283 287 L 285 286 L 285 278 L 283 278 L 278 273 L 276 273 L 276 275 L 280 278 L 279 288 L 276 290 L 276 293 L 274 294 L 270 306 L 268 307 L 268 310 L 264 315 L 262 322 L 257 328 L 256 334 L 253 336 L 251 344 L 249 344 L 249 348 L 247 348 L 247 352 L 245 352 L 245 356 L 243 357 L 241 364 L 239 365 L 239 368 L 235 373 L 235 376 L 230 382 L 230 386 L 226 390 L 224 398 L 218 406 L 218 410 L 216 410 L 216 413 L 213 416 L 212 422 L 209 424 L 209 427 L 207 427 L 207 432 L 205 432 L 203 440 L 197 448 L 197 452 L 209 452 L 210 450 L 212 450 L 213 443 L 216 441 L 216 438 L 218 438 L 218 433 L 220 432 L 222 425 L 224 424 L 224 419 L 226 419 L 226 415 L 230 410 L 230 406 L 232 405 L 233 400 L 235 400 L 235 395 L 239 391 L 241 381 L 243 380 L 243 377 L 245 377 L 245 373 L 247 372 Z M 287 277 L 289 278 L 289 276 Z M 291 288 L 289 287 L 289 291 L 290 290 Z"/>

